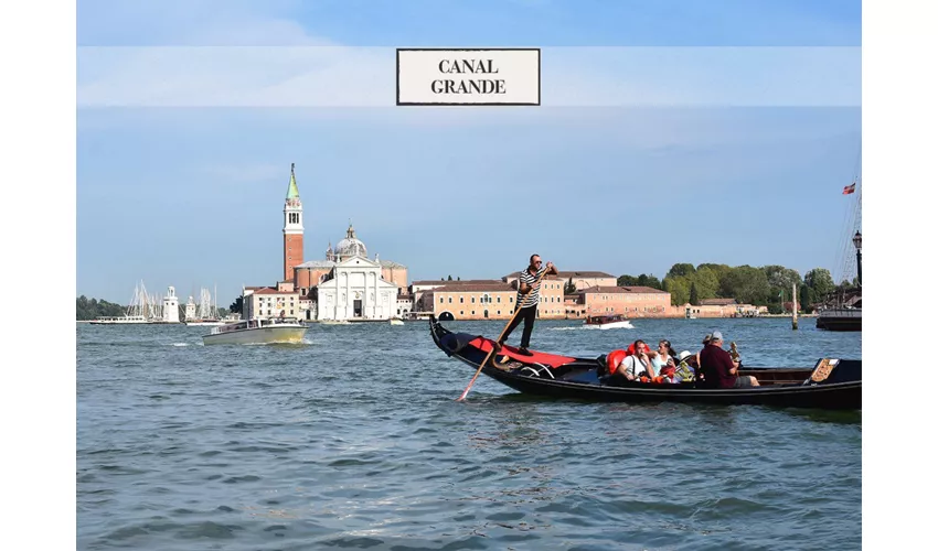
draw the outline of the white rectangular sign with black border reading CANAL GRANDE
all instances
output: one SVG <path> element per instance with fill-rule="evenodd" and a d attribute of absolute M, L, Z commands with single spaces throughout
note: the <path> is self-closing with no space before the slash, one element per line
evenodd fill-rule
<path fill-rule="evenodd" d="M 541 105 L 541 48 L 397 48 L 397 105 Z"/>

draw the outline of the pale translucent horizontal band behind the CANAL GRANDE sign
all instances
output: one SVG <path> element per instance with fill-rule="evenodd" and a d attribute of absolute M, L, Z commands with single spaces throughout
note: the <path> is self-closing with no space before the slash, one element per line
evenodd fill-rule
<path fill-rule="evenodd" d="M 859 106 L 860 61 L 859 47 L 547 47 L 542 106 Z M 83 46 L 77 97 L 79 108 L 392 107 L 395 71 L 393 47 Z"/>

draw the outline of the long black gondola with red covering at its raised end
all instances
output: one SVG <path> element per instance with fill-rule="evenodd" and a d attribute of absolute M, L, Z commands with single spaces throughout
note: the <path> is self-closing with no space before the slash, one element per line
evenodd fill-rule
<path fill-rule="evenodd" d="M 430 316 L 434 343 L 449 357 L 478 369 L 493 341 L 469 333 L 454 333 Z M 759 387 L 711 389 L 695 382 L 653 383 L 628 381 L 605 374 L 606 356 L 577 358 L 530 350 L 518 354 L 505 345 L 482 367 L 482 372 L 520 392 L 554 398 L 621 402 L 695 402 L 711 404 L 761 404 L 829 410 L 861 409 L 861 360 L 822 358 L 813 368 L 744 367 Z"/>

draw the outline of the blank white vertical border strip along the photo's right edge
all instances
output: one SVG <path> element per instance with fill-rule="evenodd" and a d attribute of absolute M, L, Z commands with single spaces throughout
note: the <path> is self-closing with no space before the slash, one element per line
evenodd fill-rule
<path fill-rule="evenodd" d="M 866 549 L 923 549 L 935 525 L 936 11 L 910 0 L 863 10 Z"/>

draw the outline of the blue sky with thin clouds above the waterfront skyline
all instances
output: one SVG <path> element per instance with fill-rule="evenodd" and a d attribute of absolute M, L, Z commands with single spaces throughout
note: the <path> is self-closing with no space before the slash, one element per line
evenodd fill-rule
<path fill-rule="evenodd" d="M 283 276 L 351 219 L 411 280 L 676 262 L 836 274 L 859 1 L 79 1 L 77 292 Z M 541 107 L 394 106 L 395 47 L 542 47 Z"/>

